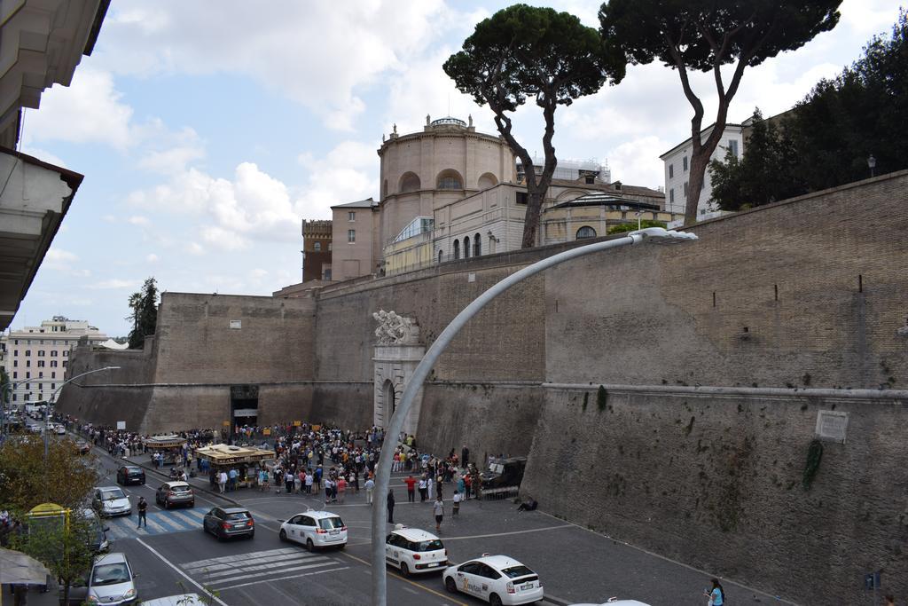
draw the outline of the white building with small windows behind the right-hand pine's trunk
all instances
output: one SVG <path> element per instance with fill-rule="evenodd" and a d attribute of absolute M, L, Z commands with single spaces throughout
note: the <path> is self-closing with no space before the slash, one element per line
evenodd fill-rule
<path fill-rule="evenodd" d="M 716 150 L 710 156 L 712 160 L 722 160 L 725 158 L 725 152 L 731 151 L 732 154 L 744 154 L 745 130 L 750 124 L 750 119 L 745 120 L 742 124 L 726 124 L 725 131 L 722 133 L 722 139 L 716 145 Z M 700 131 L 700 141 L 706 141 L 713 132 L 716 124 L 710 124 Z M 665 164 L 666 177 L 666 201 L 665 210 L 672 213 L 684 213 L 687 203 L 687 183 L 690 179 L 690 156 L 693 151 L 692 139 L 672 147 L 665 154 L 659 156 L 659 159 Z M 703 175 L 703 191 L 700 193 L 700 201 L 696 206 L 697 221 L 708 219 L 712 216 L 721 214 L 710 208 L 710 202 L 713 198 L 713 185 L 709 178 L 709 168 L 706 168 L 706 174 Z"/>

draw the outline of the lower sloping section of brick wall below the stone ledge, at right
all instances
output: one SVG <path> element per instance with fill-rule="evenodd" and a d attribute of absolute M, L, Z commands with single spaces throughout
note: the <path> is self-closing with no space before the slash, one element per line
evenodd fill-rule
<path fill-rule="evenodd" d="M 799 603 L 863 603 L 868 571 L 908 593 L 908 392 L 605 391 L 546 386 L 521 487 L 541 509 Z M 820 409 L 847 440 L 805 491 Z"/>

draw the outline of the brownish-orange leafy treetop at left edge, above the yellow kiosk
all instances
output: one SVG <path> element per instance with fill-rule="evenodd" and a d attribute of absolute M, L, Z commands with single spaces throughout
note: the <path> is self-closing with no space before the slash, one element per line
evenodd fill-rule
<path fill-rule="evenodd" d="M 52 440 L 44 463 L 44 440 L 15 436 L 0 445 L 0 510 L 21 515 L 43 502 L 79 509 L 98 472 L 92 455 L 80 455 L 71 440 Z"/>

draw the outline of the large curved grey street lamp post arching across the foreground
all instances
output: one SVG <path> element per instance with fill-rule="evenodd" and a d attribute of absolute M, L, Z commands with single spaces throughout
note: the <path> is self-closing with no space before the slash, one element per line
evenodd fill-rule
<path fill-rule="evenodd" d="M 407 414 L 410 412 L 410 407 L 413 404 L 416 393 L 422 388 L 422 383 L 426 380 L 432 367 L 435 366 L 441 353 L 445 351 L 449 343 L 454 339 L 457 333 L 459 333 L 460 329 L 463 328 L 464 324 L 469 322 L 469 320 L 479 313 L 479 310 L 485 307 L 492 299 L 499 294 L 504 293 L 514 284 L 522 282 L 530 276 L 558 265 L 558 263 L 564 263 L 565 261 L 586 254 L 598 253 L 599 251 L 604 251 L 609 248 L 618 248 L 620 246 L 643 242 L 675 243 L 696 239 L 694 233 L 666 231 L 666 229 L 663 229 L 662 227 L 647 227 L 646 229 L 637 232 L 628 233 L 627 236 L 616 240 L 607 240 L 605 242 L 587 244 L 586 246 L 578 246 L 577 248 L 565 251 L 564 253 L 552 255 L 547 259 L 528 265 L 518 272 L 510 274 L 507 278 L 489 288 L 485 293 L 480 294 L 473 303 L 469 303 L 463 311 L 458 313 L 454 319 L 451 320 L 445 330 L 443 330 L 435 342 L 431 344 L 429 351 L 423 356 L 419 365 L 417 365 L 416 370 L 410 377 L 410 381 L 407 382 L 407 386 L 404 388 L 400 403 L 391 415 L 388 427 L 385 428 L 385 442 L 375 468 L 375 492 L 373 492 L 373 494 L 376 494 L 377 498 L 372 501 L 371 567 L 373 606 L 385 606 L 387 600 L 388 579 L 387 571 L 385 570 L 384 545 L 385 522 L 383 517 L 384 508 L 382 508 L 381 505 L 384 503 L 384 499 L 388 494 L 391 459 L 394 456 L 394 446 L 397 443 L 400 431 L 403 429 L 404 419 L 407 418 Z"/>

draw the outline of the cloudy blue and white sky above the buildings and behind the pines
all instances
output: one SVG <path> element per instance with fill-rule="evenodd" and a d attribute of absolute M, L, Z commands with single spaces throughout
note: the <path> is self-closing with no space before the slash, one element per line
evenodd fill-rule
<path fill-rule="evenodd" d="M 301 221 L 379 194 L 382 134 L 479 107 L 441 69 L 483 18 L 510 3 L 356 0 L 154 3 L 116 0 L 71 86 L 26 110 L 21 151 L 85 175 L 11 325 L 54 315 L 126 335 L 127 302 L 163 291 L 270 295 L 301 281 Z M 547 3 L 597 27 L 599 2 Z M 745 70 L 729 112 L 785 111 L 887 33 L 898 2 L 844 0 L 842 19 L 799 50 Z M 708 75 L 692 82 L 716 114 Z M 556 114 L 562 159 L 597 159 L 613 180 L 656 188 L 659 154 L 690 134 L 676 71 L 629 66 Z M 534 105 L 518 141 L 541 151 Z"/>

